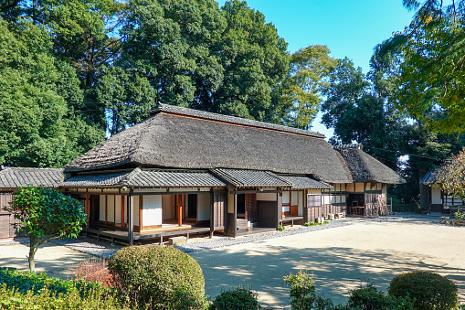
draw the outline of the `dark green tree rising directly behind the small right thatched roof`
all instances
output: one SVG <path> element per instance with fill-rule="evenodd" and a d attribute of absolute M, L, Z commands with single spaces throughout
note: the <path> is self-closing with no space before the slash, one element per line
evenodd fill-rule
<path fill-rule="evenodd" d="M 370 75 L 378 76 L 375 72 Z M 374 86 L 361 68 L 354 68 L 352 60 L 340 59 L 330 74 L 329 84 L 324 91 L 322 123 L 334 128 L 330 141 L 362 143 L 369 154 L 396 169 L 400 154 L 395 150 L 402 144 L 405 120 L 389 101 L 386 79 L 377 80 Z"/>

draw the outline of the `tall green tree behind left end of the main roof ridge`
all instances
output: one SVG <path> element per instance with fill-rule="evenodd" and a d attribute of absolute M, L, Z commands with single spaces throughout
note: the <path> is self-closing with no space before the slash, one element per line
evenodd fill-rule
<path fill-rule="evenodd" d="M 155 102 L 197 108 L 223 80 L 219 39 L 225 19 L 213 0 L 133 0 L 122 68 L 143 73 Z"/>

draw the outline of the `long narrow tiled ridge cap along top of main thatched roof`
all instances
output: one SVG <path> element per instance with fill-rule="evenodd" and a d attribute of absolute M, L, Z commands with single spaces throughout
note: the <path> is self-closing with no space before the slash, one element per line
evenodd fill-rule
<path fill-rule="evenodd" d="M 203 118 L 203 119 L 210 120 L 210 121 L 233 123 L 233 124 L 238 124 L 238 125 L 258 127 L 262 129 L 276 130 L 276 131 L 290 133 L 290 134 L 302 134 L 306 136 L 312 136 L 315 138 L 325 137 L 324 134 L 312 132 L 310 130 L 289 127 L 289 126 L 280 125 L 276 123 L 266 123 L 266 122 L 260 122 L 260 121 L 255 121 L 255 120 L 249 120 L 249 119 L 238 117 L 238 116 L 219 114 L 215 112 L 206 112 L 206 111 L 200 111 L 200 110 L 195 110 L 195 109 L 189 109 L 189 108 L 179 107 L 179 106 L 170 105 L 170 104 L 161 103 L 161 102 L 158 103 L 155 109 L 150 111 L 151 114 L 158 113 L 158 112 L 168 112 L 168 113 L 180 114 L 180 115 L 185 115 L 185 116 Z"/>

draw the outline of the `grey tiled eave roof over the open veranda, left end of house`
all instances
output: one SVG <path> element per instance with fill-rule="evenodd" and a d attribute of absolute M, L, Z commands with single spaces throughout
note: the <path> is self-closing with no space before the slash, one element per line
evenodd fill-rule
<path fill-rule="evenodd" d="M 79 173 L 61 187 L 225 187 L 226 183 L 207 171 L 135 168 Z"/>

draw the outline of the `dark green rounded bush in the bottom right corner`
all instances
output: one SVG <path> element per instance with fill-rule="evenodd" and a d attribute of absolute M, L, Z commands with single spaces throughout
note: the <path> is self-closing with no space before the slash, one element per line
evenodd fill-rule
<path fill-rule="evenodd" d="M 457 286 L 438 273 L 412 272 L 397 275 L 389 285 L 389 294 L 415 299 L 415 309 L 456 309 Z"/>

